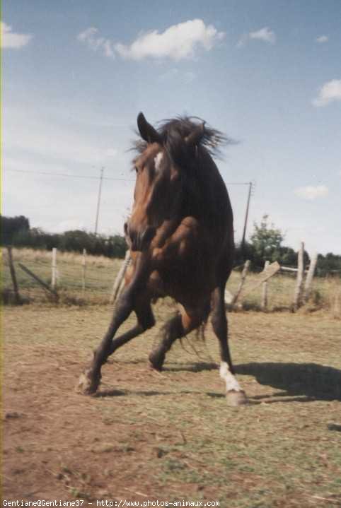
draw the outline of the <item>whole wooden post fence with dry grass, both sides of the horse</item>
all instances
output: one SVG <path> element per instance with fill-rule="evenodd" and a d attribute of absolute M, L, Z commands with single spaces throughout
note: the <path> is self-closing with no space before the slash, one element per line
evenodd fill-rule
<path fill-rule="evenodd" d="M 3 256 L 3 300 L 112 303 L 122 286 L 118 273 L 121 271 L 122 275 L 122 267 L 128 264 L 127 257 L 122 261 L 90 256 L 86 252 L 13 249 L 12 253 L 10 249 Z M 289 270 L 277 263 L 265 264 L 265 270 L 259 274 L 250 273 L 248 263 L 242 273 L 231 273 L 226 291 L 229 307 L 297 310 L 308 301 L 315 307 L 328 307 L 340 314 L 341 280 L 313 278 L 316 261 L 312 259 L 308 271 L 302 264 Z"/>

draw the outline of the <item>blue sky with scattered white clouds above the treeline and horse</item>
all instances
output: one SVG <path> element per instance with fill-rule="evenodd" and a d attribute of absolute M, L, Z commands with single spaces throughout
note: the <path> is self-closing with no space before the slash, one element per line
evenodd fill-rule
<path fill-rule="evenodd" d="M 190 114 L 238 144 L 218 162 L 240 240 L 267 213 L 312 253 L 341 254 L 341 2 L 2 2 L 5 215 L 122 233 L 139 111 Z M 42 172 L 50 175 L 42 175 Z M 77 175 L 79 178 L 62 177 Z"/>

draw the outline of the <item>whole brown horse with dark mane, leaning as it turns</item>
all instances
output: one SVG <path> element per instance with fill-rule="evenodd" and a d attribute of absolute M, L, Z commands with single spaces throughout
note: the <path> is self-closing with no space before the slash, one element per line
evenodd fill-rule
<path fill-rule="evenodd" d="M 224 305 L 233 263 L 233 215 L 212 159 L 219 143 L 227 140 L 204 122 L 187 117 L 154 129 L 140 113 L 137 126 L 142 139 L 135 146 L 134 206 L 125 224 L 132 265 L 109 329 L 81 374 L 79 388 L 86 394 L 96 392 L 108 356 L 154 326 L 151 300 L 168 295 L 180 309 L 151 351 L 151 366 L 161 370 L 173 343 L 206 322 L 211 312 L 227 401 L 233 406 L 245 403 L 245 393 L 233 375 Z M 132 311 L 136 326 L 113 339 Z"/>

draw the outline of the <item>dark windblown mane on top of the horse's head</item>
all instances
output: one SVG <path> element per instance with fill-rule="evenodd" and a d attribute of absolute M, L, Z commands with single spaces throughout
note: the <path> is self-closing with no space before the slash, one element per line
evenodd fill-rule
<path fill-rule="evenodd" d="M 158 122 L 156 130 L 163 140 L 163 146 L 172 154 L 174 139 L 180 138 L 185 140 L 202 123 L 204 123 L 204 134 L 197 144 L 198 148 L 205 148 L 212 157 L 221 158 L 221 146 L 232 144 L 233 141 L 227 138 L 221 131 L 207 126 L 204 120 L 199 117 L 176 117 L 161 120 L 161 122 Z M 136 150 L 137 153 L 143 153 L 146 150 L 146 146 L 146 141 L 139 138 L 133 142 L 132 149 Z"/>

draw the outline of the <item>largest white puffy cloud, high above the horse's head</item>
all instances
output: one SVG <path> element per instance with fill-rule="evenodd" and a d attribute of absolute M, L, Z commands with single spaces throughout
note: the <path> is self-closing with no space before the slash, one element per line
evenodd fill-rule
<path fill-rule="evenodd" d="M 224 35 L 213 25 L 205 25 L 201 19 L 194 19 L 172 25 L 163 33 L 158 33 L 158 30 L 142 33 L 131 45 L 116 44 L 115 50 L 125 59 L 151 57 L 178 61 L 195 57 L 200 47 L 209 51 Z"/>

